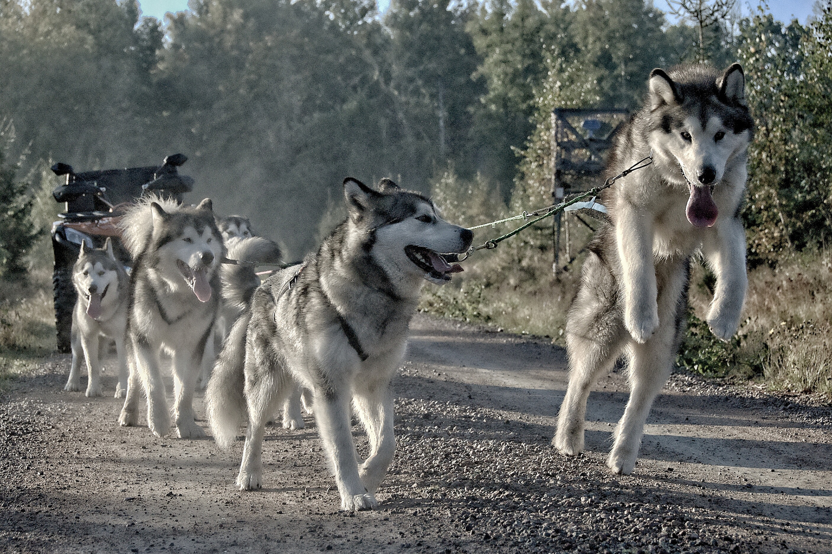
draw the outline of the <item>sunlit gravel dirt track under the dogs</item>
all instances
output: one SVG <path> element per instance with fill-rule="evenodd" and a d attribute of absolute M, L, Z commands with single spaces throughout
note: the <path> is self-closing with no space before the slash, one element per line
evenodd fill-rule
<path fill-rule="evenodd" d="M 396 458 L 379 510 L 355 514 L 337 512 L 311 418 L 270 428 L 266 488 L 240 492 L 242 443 L 119 428 L 121 401 L 63 392 L 68 358 L 48 360 L 0 403 L 0 552 L 832 552 L 830 408 L 675 375 L 635 474 L 613 476 L 622 374 L 590 397 L 586 455 L 562 458 L 562 349 L 412 329 Z"/>

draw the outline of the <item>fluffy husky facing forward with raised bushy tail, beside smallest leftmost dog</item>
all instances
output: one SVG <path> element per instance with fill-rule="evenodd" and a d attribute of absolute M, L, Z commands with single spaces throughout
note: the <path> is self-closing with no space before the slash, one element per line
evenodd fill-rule
<path fill-rule="evenodd" d="M 217 266 L 225 258 L 211 201 L 188 206 L 151 196 L 128 210 L 120 225 L 134 265 L 127 309 L 130 382 L 119 423 L 138 423 L 141 383 L 151 431 L 162 437 L 170 430 L 159 360 L 164 349 L 171 355 L 177 434 L 204 437 L 191 403 L 219 306 Z"/>

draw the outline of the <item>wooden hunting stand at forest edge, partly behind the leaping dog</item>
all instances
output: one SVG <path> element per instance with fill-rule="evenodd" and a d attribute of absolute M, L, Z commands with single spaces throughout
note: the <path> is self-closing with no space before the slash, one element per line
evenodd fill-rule
<path fill-rule="evenodd" d="M 567 195 L 599 185 L 612 136 L 626 121 L 624 109 L 585 110 L 556 108 L 552 111 L 552 199 L 557 204 Z M 559 212 L 552 218 L 554 262 L 552 273 L 560 270 L 561 227 L 566 234 L 567 260 L 572 261 L 569 218 Z M 582 223 L 586 225 L 584 220 Z M 561 225 L 563 223 L 563 225 Z"/>

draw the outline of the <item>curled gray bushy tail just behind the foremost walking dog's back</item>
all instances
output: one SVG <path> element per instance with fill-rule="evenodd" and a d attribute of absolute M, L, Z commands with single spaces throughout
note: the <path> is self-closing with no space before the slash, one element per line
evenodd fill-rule
<path fill-rule="evenodd" d="M 228 258 L 255 264 L 280 264 L 280 246 L 261 236 L 231 239 L 226 243 Z M 240 312 L 249 308 L 252 294 L 260 279 L 252 265 L 223 264 L 220 268 L 222 299 L 226 305 Z"/>

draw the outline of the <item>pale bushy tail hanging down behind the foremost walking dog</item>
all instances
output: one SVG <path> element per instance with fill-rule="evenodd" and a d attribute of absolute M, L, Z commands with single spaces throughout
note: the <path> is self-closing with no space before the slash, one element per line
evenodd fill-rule
<path fill-rule="evenodd" d="M 234 322 L 214 364 L 206 389 L 206 412 L 214 440 L 230 448 L 248 415 L 245 405 L 245 331 L 251 319 L 245 311 Z"/>

